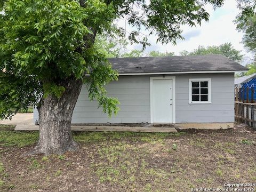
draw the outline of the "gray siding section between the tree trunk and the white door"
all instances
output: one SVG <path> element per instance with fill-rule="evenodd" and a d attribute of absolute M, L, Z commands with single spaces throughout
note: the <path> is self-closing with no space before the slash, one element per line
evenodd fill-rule
<path fill-rule="evenodd" d="M 150 122 L 149 76 L 120 76 L 107 85 L 109 97 L 116 97 L 121 110 L 111 118 L 102 113 L 97 101 L 90 101 L 82 87 L 74 109 L 72 123 L 147 123 Z"/>

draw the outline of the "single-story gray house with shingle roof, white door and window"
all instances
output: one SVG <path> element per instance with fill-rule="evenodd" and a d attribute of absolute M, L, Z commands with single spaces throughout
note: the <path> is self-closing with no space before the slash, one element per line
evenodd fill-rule
<path fill-rule="evenodd" d="M 234 73 L 247 68 L 222 55 L 110 58 L 118 81 L 106 86 L 120 111 L 108 117 L 82 87 L 73 124 L 175 124 L 179 128 L 234 126 Z M 37 111 L 34 120 L 38 119 Z"/>

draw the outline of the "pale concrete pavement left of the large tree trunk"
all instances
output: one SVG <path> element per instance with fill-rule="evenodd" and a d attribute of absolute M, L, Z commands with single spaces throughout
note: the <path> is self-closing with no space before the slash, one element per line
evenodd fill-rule
<path fill-rule="evenodd" d="M 28 114 L 16 114 L 14 117 L 12 117 L 12 120 L 3 120 L 0 121 L 0 124 L 2 125 L 34 125 L 34 119 L 33 119 L 33 113 Z"/>

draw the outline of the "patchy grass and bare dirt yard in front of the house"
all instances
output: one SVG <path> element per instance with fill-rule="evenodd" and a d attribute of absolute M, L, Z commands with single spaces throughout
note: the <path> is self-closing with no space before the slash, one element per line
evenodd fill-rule
<path fill-rule="evenodd" d="M 38 132 L 0 125 L 0 191 L 190 191 L 256 183 L 256 131 L 74 132 L 65 155 L 20 157 Z"/>

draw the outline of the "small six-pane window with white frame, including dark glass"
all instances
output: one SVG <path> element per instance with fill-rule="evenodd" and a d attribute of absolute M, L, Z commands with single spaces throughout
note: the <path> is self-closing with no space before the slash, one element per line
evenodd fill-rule
<path fill-rule="evenodd" d="M 211 103 L 211 78 L 189 79 L 189 103 Z"/>

